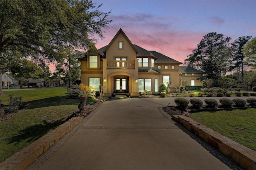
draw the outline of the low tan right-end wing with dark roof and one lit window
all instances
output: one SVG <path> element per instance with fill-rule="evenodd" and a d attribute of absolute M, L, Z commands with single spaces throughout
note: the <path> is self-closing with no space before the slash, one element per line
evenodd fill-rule
<path fill-rule="evenodd" d="M 201 71 L 191 66 L 180 66 L 182 80 L 186 80 L 186 86 L 202 86 L 203 83 L 197 80 L 201 77 Z"/>

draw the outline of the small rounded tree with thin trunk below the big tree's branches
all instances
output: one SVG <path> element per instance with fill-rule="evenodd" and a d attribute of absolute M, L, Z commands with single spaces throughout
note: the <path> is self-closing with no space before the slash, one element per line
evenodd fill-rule
<path fill-rule="evenodd" d="M 11 69 L 17 78 L 26 78 L 29 87 L 29 78 L 39 78 L 42 75 L 42 69 L 29 60 L 20 60 L 15 67 Z"/>

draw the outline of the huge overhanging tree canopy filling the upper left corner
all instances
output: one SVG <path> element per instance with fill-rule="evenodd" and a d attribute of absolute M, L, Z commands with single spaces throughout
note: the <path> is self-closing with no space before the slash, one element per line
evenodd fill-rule
<path fill-rule="evenodd" d="M 107 19 L 111 11 L 102 12 L 100 6 L 92 0 L 1 0 L 1 60 L 7 57 L 2 53 L 8 52 L 9 56 L 43 56 L 58 63 L 63 61 L 67 45 L 95 48 L 94 35 L 104 38 L 102 28 L 112 22 Z M 0 73 L 9 68 L 1 64 Z"/>

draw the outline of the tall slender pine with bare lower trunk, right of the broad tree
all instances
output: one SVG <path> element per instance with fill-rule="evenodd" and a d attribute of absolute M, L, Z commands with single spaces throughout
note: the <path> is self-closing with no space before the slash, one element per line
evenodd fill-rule
<path fill-rule="evenodd" d="M 232 65 L 230 66 L 230 71 L 234 70 L 235 68 L 240 72 L 241 69 L 241 76 L 242 76 L 242 82 L 244 81 L 244 58 L 245 55 L 242 53 L 242 49 L 244 48 L 244 45 L 250 40 L 252 36 L 244 36 L 244 37 L 238 37 L 232 45 L 233 49 L 233 59 L 232 59 Z"/>

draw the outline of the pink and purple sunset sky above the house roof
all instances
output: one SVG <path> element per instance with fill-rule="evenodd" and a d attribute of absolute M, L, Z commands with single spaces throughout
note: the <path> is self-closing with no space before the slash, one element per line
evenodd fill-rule
<path fill-rule="evenodd" d="M 99 49 L 122 28 L 133 44 L 184 62 L 204 35 L 256 37 L 256 0 L 93 0 L 113 20 Z"/>

